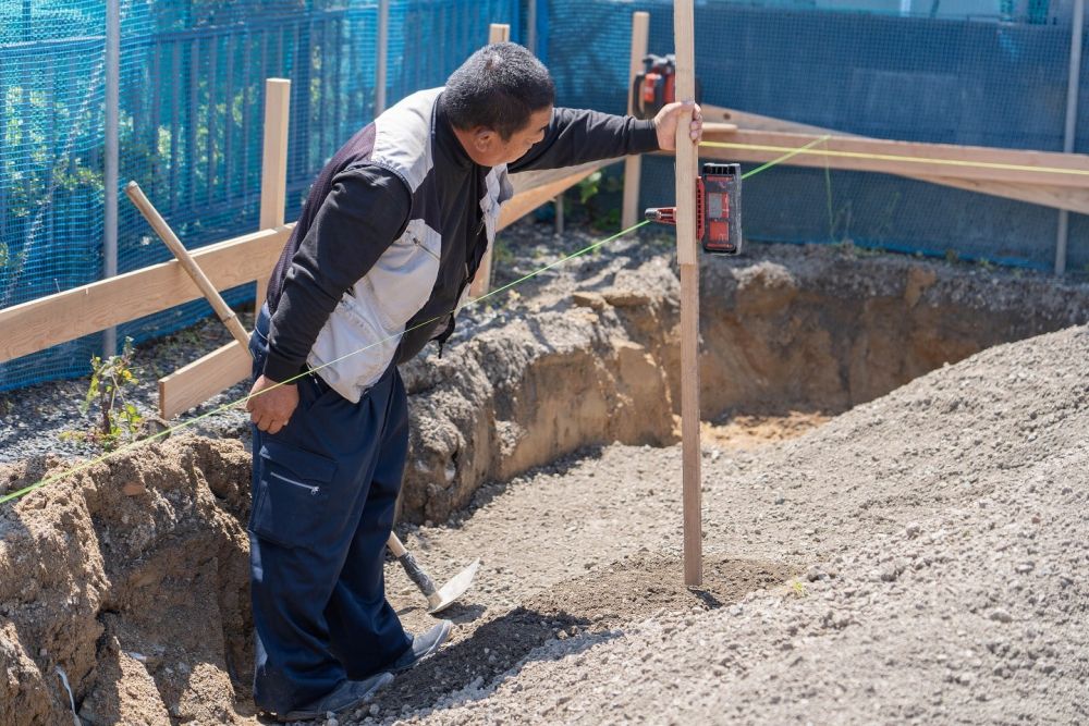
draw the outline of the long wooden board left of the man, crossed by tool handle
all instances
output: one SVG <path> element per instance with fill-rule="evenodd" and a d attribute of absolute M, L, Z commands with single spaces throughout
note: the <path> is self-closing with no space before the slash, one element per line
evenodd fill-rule
<path fill-rule="evenodd" d="M 266 274 L 293 225 L 203 247 L 194 259 L 217 290 Z M 49 295 L 0 310 L 0 361 L 98 332 L 110 325 L 188 303 L 200 291 L 176 260 Z"/>

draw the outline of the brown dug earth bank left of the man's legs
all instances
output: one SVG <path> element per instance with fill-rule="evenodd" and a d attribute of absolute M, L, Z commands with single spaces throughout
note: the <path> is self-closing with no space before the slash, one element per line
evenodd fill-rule
<path fill-rule="evenodd" d="M 0 471 L 14 491 L 72 464 Z M 143 446 L 0 509 L 0 723 L 232 723 L 252 666 L 249 458 Z"/>

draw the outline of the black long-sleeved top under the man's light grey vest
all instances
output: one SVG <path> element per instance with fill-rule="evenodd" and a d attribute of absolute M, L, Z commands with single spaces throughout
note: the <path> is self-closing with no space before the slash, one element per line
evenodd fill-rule
<path fill-rule="evenodd" d="M 368 130 L 372 135 L 371 125 L 360 131 L 353 141 Z M 479 188 L 489 170 L 475 164 L 462 148 L 442 112 L 441 97 L 432 144 L 435 183 L 440 186 L 443 208 L 443 247 L 466 246 L 465 284 L 476 272 L 487 245 Z M 507 170 L 516 173 L 555 169 L 658 148 L 651 121 L 559 108 L 552 114 L 544 137 Z M 334 157 L 322 174 L 327 174 L 337 161 Z M 344 293 L 403 233 L 412 197 L 397 175 L 364 163 L 337 173 L 325 198 L 311 198 L 307 205 L 298 223 L 306 225 L 305 233 L 292 235 L 269 284 L 272 324 L 265 374 L 273 381 L 292 378 L 303 369 L 321 327 Z M 318 205 L 316 212 L 310 208 L 314 205 Z M 450 295 L 432 296 L 409 321 L 408 328 L 412 329 L 416 321 L 425 322 L 449 313 L 456 297 L 456 294 L 452 299 Z M 406 334 L 402 348 L 407 356 L 415 355 L 426 344 L 433 328 L 421 327 Z"/>

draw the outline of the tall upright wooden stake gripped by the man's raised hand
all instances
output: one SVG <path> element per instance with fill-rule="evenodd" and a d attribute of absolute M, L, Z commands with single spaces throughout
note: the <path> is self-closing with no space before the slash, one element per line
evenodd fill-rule
<path fill-rule="evenodd" d="M 673 4 L 676 98 L 696 99 L 693 0 Z M 688 137 L 688 120 L 677 124 L 677 262 L 681 266 L 681 446 L 684 481 L 684 582 L 703 582 L 699 444 L 699 257 L 696 251 L 696 176 L 699 158 Z"/>

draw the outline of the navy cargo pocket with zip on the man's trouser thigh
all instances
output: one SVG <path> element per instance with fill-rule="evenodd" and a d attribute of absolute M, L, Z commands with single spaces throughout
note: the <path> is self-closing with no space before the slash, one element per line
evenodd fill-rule
<path fill-rule="evenodd" d="M 266 441 L 259 455 L 249 531 L 285 547 L 314 547 L 328 519 L 337 462 L 274 441 Z"/>

